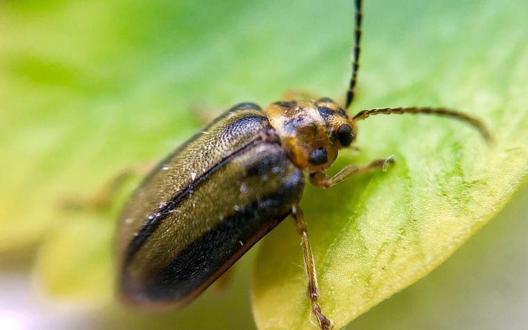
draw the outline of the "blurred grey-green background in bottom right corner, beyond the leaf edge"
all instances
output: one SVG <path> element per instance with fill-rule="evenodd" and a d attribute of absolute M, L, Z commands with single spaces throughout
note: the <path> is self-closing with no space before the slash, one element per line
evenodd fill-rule
<path fill-rule="evenodd" d="M 354 329 L 522 329 L 526 324 L 525 185 L 493 222 L 424 279 L 354 320 Z"/>

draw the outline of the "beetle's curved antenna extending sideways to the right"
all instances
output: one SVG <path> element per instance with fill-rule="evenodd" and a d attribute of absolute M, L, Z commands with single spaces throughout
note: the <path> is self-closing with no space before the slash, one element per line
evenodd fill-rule
<path fill-rule="evenodd" d="M 357 115 L 354 116 L 352 120 L 362 120 L 374 115 L 391 115 L 391 114 L 403 115 L 404 113 L 410 113 L 411 115 L 438 115 L 443 117 L 451 117 L 454 119 L 461 120 L 466 122 L 475 129 L 479 130 L 479 133 L 482 135 L 486 142 L 490 143 L 493 141 L 493 138 L 490 135 L 486 126 L 479 120 L 474 117 L 468 116 L 465 113 L 460 113 L 459 111 L 450 110 L 447 108 L 430 108 L 430 107 L 409 107 L 409 108 L 375 108 L 372 110 L 363 110 L 360 111 Z"/>

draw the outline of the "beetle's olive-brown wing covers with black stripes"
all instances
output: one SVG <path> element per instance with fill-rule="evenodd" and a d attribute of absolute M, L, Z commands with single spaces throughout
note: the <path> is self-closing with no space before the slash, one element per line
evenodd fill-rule
<path fill-rule="evenodd" d="M 119 286 L 131 302 L 189 302 L 286 217 L 302 195 L 302 172 L 273 138 L 260 110 L 235 108 L 206 132 L 165 159 L 123 212 L 119 236 L 128 236 L 118 245 Z M 166 173 L 163 166 L 176 170 Z M 152 192 L 166 198 L 152 200 Z"/>

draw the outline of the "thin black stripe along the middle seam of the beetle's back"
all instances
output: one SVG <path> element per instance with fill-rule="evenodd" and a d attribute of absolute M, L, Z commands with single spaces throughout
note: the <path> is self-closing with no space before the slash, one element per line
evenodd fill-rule
<path fill-rule="evenodd" d="M 163 220 L 165 220 L 170 214 L 172 214 L 172 210 L 174 210 L 174 208 L 178 207 L 183 201 L 185 201 L 185 199 L 190 196 L 192 190 L 198 188 L 199 185 L 203 184 L 209 178 L 209 176 L 211 176 L 211 174 L 220 170 L 220 168 L 226 165 L 226 163 L 229 163 L 229 161 L 231 161 L 233 158 L 244 154 L 246 151 L 261 142 L 263 142 L 261 138 L 252 140 L 244 147 L 233 152 L 233 154 L 230 154 L 226 158 L 222 159 L 215 166 L 211 167 L 210 170 L 204 172 L 204 174 L 202 174 L 201 176 L 198 176 L 195 181 L 192 181 L 183 190 L 180 190 L 178 194 L 176 194 L 169 201 L 167 201 L 167 203 L 165 203 L 163 207 L 158 209 L 158 211 L 151 213 L 149 216 L 147 216 L 147 223 L 142 226 L 142 229 L 140 229 L 138 234 L 133 238 L 133 240 L 130 242 L 129 247 L 127 248 L 124 263 L 126 264 L 131 261 L 134 254 L 142 247 L 142 245 L 145 244 L 149 236 L 151 236 L 151 234 L 154 233 L 158 226 L 160 226 L 161 222 L 163 222 Z"/>

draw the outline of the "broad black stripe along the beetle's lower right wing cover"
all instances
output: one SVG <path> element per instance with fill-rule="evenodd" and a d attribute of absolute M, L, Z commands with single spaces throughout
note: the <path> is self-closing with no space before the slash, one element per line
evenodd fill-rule
<path fill-rule="evenodd" d="M 149 299 L 173 302 L 200 288 L 256 233 L 265 235 L 287 217 L 291 210 L 284 210 L 284 206 L 295 204 L 303 187 L 302 173 L 295 170 L 277 191 L 225 217 L 149 277 L 145 287 Z M 244 246 L 244 252 L 251 245 Z"/>

